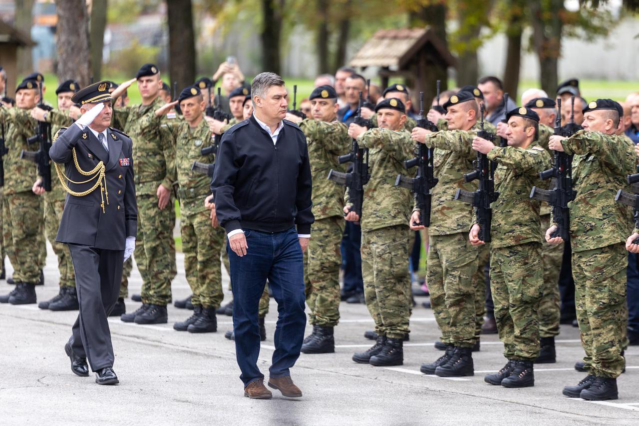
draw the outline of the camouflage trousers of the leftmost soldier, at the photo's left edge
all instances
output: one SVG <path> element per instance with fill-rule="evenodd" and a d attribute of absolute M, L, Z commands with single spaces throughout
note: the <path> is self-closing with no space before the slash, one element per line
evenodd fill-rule
<path fill-rule="evenodd" d="M 13 265 L 13 280 L 17 283 L 37 283 L 40 280 L 38 233 L 42 218 L 40 196 L 31 191 L 4 194 L 4 246 Z"/>

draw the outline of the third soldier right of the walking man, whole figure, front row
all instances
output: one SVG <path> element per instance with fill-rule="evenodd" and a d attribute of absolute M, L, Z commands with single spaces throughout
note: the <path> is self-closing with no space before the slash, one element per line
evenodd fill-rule
<path fill-rule="evenodd" d="M 430 132 L 415 127 L 412 138 L 435 148 L 435 177 L 439 182 L 433 190 L 429 251 L 426 278 L 431 294 L 431 306 L 447 345 L 445 354 L 434 363 L 424 364 L 424 374 L 442 376 L 473 375 L 472 348 L 478 342 L 476 304 L 477 289 L 485 287 L 477 274 L 477 249 L 470 245 L 472 208 L 454 200 L 457 189 L 474 191 L 474 182 L 465 182 L 463 175 L 472 170 L 477 157 L 471 141 L 480 129 L 477 123 L 477 102 L 472 93 L 460 91 L 450 97 L 447 109 L 448 130 Z M 422 229 L 420 211 L 413 209 L 411 228 Z"/>

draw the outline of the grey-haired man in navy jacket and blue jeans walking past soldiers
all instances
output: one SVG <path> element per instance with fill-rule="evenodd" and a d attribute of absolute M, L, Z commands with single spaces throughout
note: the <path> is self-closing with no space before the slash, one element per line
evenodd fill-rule
<path fill-rule="evenodd" d="M 235 351 L 244 396 L 270 399 L 259 371 L 258 305 L 266 279 L 277 301 L 275 352 L 268 386 L 301 397 L 289 369 L 304 339 L 304 263 L 311 237 L 311 167 L 302 130 L 283 120 L 284 81 L 258 74 L 251 87 L 254 111 L 224 133 L 211 183 L 212 225 L 224 226 L 233 282 Z"/>

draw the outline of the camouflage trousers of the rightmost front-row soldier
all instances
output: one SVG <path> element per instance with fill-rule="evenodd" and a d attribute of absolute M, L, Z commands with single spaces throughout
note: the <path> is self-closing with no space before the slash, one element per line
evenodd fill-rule
<path fill-rule="evenodd" d="M 597 377 L 619 377 L 626 331 L 626 267 L 624 243 L 573 251 L 574 304 L 585 368 Z"/>

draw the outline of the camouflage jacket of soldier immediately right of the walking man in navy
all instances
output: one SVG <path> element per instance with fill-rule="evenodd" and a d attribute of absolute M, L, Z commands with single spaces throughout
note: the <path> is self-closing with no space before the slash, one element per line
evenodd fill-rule
<path fill-rule="evenodd" d="M 328 180 L 328 171 L 346 171 L 344 164 L 337 162 L 339 155 L 348 154 L 352 139 L 348 127 L 340 122 L 303 120 L 300 129 L 306 136 L 309 147 L 312 177 L 312 212 L 315 220 L 331 216 L 343 216 L 344 191 L 341 185 Z"/>

